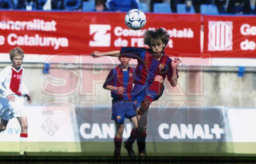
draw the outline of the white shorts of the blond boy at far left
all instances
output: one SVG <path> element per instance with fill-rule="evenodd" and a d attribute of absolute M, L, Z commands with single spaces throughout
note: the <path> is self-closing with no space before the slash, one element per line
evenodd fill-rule
<path fill-rule="evenodd" d="M 27 117 L 26 109 L 24 106 L 24 97 L 19 95 L 13 96 L 15 97 L 14 102 L 9 101 L 5 97 L 1 97 L 0 99 L 0 104 L 2 105 L 2 109 L 0 109 L 0 117 L 3 120 L 9 120 L 13 117 Z M 1 111 L 3 111 L 2 114 Z"/>

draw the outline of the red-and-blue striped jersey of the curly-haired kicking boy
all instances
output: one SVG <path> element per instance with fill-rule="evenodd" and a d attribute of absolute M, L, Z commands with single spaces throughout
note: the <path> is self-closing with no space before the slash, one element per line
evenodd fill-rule
<path fill-rule="evenodd" d="M 164 54 L 164 51 L 162 53 L 163 55 L 158 61 L 154 59 L 154 57 L 152 56 L 151 49 L 137 47 L 122 47 L 120 51 L 120 56 L 137 59 L 138 65 L 135 70 L 135 83 L 147 85 L 152 84 L 156 75 L 161 75 L 163 79 L 165 79 L 167 76 L 168 81 L 171 80 L 172 59 L 168 57 L 166 54 Z"/>

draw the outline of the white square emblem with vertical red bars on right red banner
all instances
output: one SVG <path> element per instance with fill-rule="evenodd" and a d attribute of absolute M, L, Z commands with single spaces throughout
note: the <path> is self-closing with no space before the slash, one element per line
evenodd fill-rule
<path fill-rule="evenodd" d="M 233 22 L 208 22 L 208 51 L 231 51 L 233 49 Z"/>

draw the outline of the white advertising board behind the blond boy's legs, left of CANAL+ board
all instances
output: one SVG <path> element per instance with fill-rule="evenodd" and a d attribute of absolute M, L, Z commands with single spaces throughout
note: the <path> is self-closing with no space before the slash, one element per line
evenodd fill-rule
<path fill-rule="evenodd" d="M 26 106 L 28 142 L 75 142 L 70 106 Z M 67 133 L 68 132 L 68 133 Z M 17 118 L 9 120 L 0 133 L 0 142 L 18 142 L 21 126 Z"/>

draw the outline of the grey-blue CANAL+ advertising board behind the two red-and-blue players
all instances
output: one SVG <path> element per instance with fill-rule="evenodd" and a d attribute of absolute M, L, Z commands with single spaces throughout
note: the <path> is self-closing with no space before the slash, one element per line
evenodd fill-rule
<path fill-rule="evenodd" d="M 111 109 L 76 108 L 81 142 L 112 142 L 115 123 Z M 147 142 L 228 142 L 228 127 L 221 108 L 150 108 Z M 126 119 L 123 138 L 130 136 L 132 123 Z"/>

